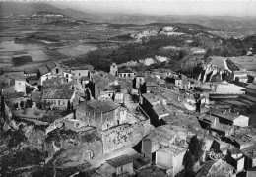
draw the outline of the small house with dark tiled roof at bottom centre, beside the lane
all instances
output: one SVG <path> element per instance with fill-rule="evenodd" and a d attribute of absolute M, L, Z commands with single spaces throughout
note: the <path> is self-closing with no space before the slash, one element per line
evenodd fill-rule
<path fill-rule="evenodd" d="M 106 162 L 115 168 L 115 174 L 113 174 L 113 176 L 123 177 L 132 175 L 134 173 L 133 160 L 128 155 L 122 155 L 115 158 L 111 158 Z"/>

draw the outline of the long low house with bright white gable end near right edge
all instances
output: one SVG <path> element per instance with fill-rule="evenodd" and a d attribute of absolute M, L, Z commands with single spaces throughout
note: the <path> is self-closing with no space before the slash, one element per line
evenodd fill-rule
<path fill-rule="evenodd" d="M 247 127 L 249 125 L 249 117 L 240 114 L 220 111 L 218 109 L 211 109 L 208 114 L 216 117 L 217 123 L 226 124 L 230 126 Z"/>

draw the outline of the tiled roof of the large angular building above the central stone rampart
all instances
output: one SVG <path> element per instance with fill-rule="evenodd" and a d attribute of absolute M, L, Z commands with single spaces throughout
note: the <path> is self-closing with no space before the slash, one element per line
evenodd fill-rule
<path fill-rule="evenodd" d="M 81 105 L 77 106 L 78 111 L 83 110 L 91 110 L 95 112 L 109 112 L 111 110 L 117 109 L 119 107 L 118 104 L 115 104 L 111 98 L 105 99 L 93 99 L 82 103 Z"/>

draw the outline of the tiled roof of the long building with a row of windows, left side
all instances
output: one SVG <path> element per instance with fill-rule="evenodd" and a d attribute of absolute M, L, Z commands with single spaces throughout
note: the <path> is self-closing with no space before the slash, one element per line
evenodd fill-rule
<path fill-rule="evenodd" d="M 72 89 L 51 89 L 43 91 L 42 99 L 70 99 L 73 93 Z"/>

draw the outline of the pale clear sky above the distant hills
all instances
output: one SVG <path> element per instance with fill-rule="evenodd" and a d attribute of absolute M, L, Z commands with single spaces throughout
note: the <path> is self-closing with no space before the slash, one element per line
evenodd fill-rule
<path fill-rule="evenodd" d="M 101 0 L 50 1 L 59 8 L 89 13 L 122 13 L 148 15 L 256 16 L 256 1 L 246 0 Z"/>

